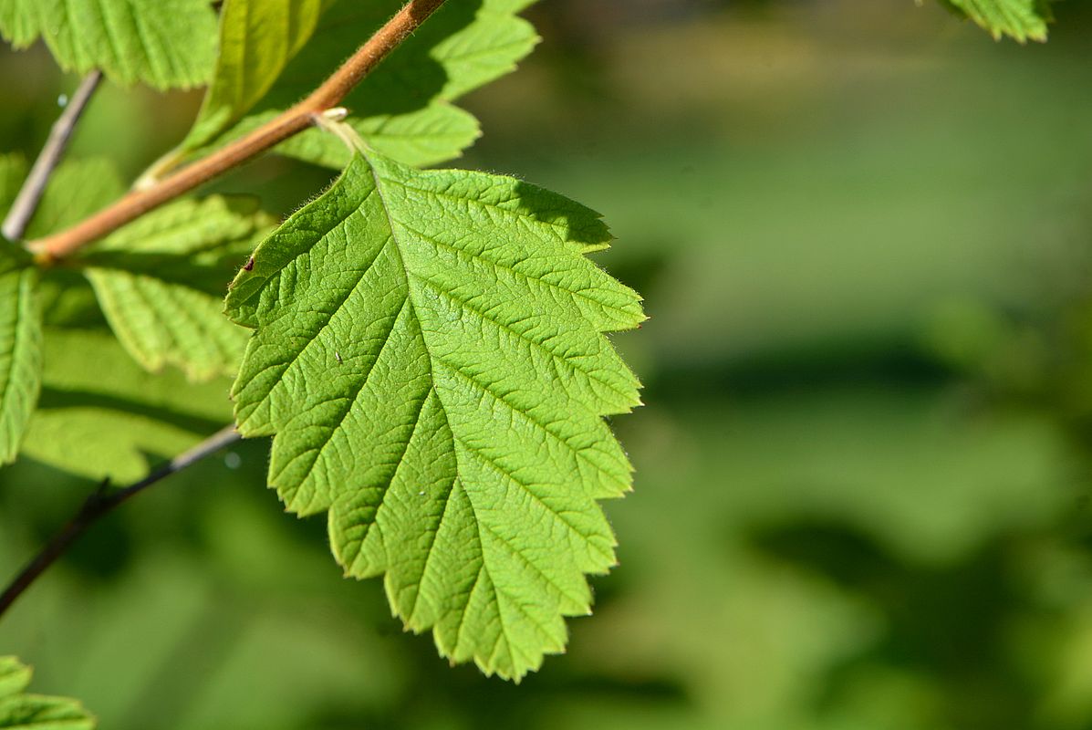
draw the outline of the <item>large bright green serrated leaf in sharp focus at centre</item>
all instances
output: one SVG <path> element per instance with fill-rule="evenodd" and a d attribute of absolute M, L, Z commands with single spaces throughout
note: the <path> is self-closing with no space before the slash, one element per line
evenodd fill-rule
<path fill-rule="evenodd" d="M 519 679 L 615 563 L 596 499 L 630 466 L 604 414 L 639 403 L 605 331 L 639 296 L 583 254 L 597 214 L 519 180 L 354 156 L 227 298 L 257 328 L 233 389 L 274 435 L 270 483 L 329 510 L 348 575 L 385 574 L 440 651 Z"/>

